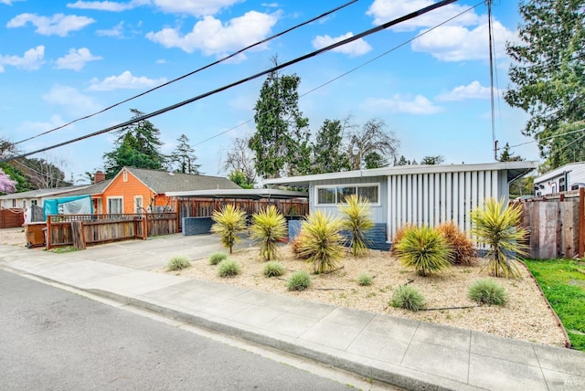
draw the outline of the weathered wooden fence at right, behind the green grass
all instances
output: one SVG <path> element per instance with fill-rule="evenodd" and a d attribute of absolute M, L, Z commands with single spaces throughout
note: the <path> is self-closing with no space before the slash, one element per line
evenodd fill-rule
<path fill-rule="evenodd" d="M 513 203 L 517 204 L 517 203 Z M 583 258 L 585 250 L 585 189 L 521 202 L 532 259 Z"/>

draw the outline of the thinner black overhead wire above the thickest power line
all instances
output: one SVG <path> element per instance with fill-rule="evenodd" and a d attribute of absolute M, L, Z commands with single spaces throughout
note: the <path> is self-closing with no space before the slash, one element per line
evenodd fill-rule
<path fill-rule="evenodd" d="M 63 129 L 63 128 L 65 128 L 65 127 L 67 127 L 67 126 L 69 126 L 69 125 L 71 125 L 71 124 L 73 124 L 73 123 L 75 123 L 75 122 L 80 122 L 80 121 L 82 121 L 82 120 L 87 120 L 87 119 L 89 119 L 89 118 L 91 118 L 91 117 L 94 117 L 94 116 L 96 116 L 96 115 L 98 115 L 98 114 L 101 114 L 102 112 L 105 112 L 105 111 L 112 110 L 114 107 L 120 106 L 121 104 L 123 104 L 123 103 L 126 103 L 126 102 L 129 102 L 130 100 L 135 100 L 136 98 L 140 98 L 140 97 L 142 97 L 142 96 L 144 96 L 144 95 L 146 95 L 146 94 L 149 94 L 149 93 L 153 92 L 154 90 L 161 89 L 161 88 L 163 88 L 163 87 L 165 87 L 165 86 L 168 86 L 169 84 L 173 84 L 173 83 L 175 83 L 176 81 L 179 81 L 179 80 L 181 80 L 181 79 L 186 79 L 187 77 L 189 77 L 189 76 L 192 76 L 192 75 L 196 74 L 197 72 L 200 72 L 201 70 L 204 70 L 204 69 L 207 69 L 207 68 L 211 68 L 211 67 L 213 67 L 213 66 L 215 66 L 215 65 L 218 65 L 218 64 L 219 64 L 219 63 L 221 63 L 221 62 L 227 61 L 229 58 L 234 58 L 234 57 L 236 57 L 236 56 L 239 56 L 240 54 L 242 54 L 242 53 L 243 53 L 243 52 L 245 52 L 246 50 L 249 50 L 250 48 L 255 48 L 255 47 L 257 47 L 257 46 L 260 46 L 260 45 L 262 45 L 262 44 L 265 44 L 265 43 L 267 43 L 267 42 L 271 41 L 271 40 L 272 40 L 272 39 L 274 39 L 274 38 L 277 38 L 277 37 L 282 37 L 283 35 L 285 35 L 285 34 L 288 34 L 288 33 L 290 33 L 291 31 L 293 31 L 293 30 L 295 30 L 295 29 L 297 29 L 297 28 L 299 28 L 299 27 L 306 26 L 306 25 L 308 25 L 308 24 L 310 24 L 310 23 L 313 23 L 315 20 L 319 20 L 319 19 L 323 18 L 324 16 L 329 16 L 329 15 L 331 15 L 331 14 L 333 14 L 333 13 L 335 13 L 335 12 L 339 11 L 340 9 L 342 9 L 342 8 L 345 8 L 347 5 L 352 5 L 352 4 L 356 3 L 356 2 L 357 2 L 357 0 L 351 0 L 351 1 L 347 2 L 347 3 L 346 3 L 346 4 L 344 4 L 344 5 L 339 5 L 338 7 L 334 8 L 334 9 L 332 9 L 332 10 L 330 10 L 330 11 L 327 11 L 327 12 L 325 12 L 324 14 L 321 14 L 320 16 L 315 16 L 315 17 L 313 17 L 312 19 L 309 19 L 309 20 L 307 20 L 307 21 L 305 21 L 305 22 L 303 22 L 303 23 L 301 23 L 301 24 L 299 24 L 299 25 L 296 25 L 296 26 L 293 26 L 293 27 L 287 28 L 286 30 L 284 30 L 284 31 L 282 31 L 282 32 L 280 32 L 280 33 L 278 33 L 278 34 L 275 34 L 275 35 L 273 35 L 273 36 L 271 36 L 271 37 L 264 38 L 264 39 L 262 39 L 261 41 L 258 41 L 258 42 L 256 42 L 255 44 L 252 44 L 252 45 L 250 45 L 250 46 L 248 46 L 248 47 L 246 47 L 246 48 L 241 48 L 241 49 L 239 49 L 238 51 L 236 51 L 236 52 L 234 52 L 234 53 L 230 54 L 229 56 L 226 56 L 226 57 L 224 57 L 224 58 L 219 58 L 217 61 L 214 61 L 214 62 L 212 62 L 212 63 L 209 63 L 209 64 L 207 64 L 206 66 L 204 66 L 204 67 L 201 67 L 201 68 L 199 68 L 199 69 L 195 69 L 195 70 L 193 70 L 193 71 L 191 71 L 191 72 L 189 72 L 189 73 L 186 73 L 186 74 L 185 74 L 185 75 L 183 75 L 183 76 L 179 76 L 179 77 L 178 77 L 178 78 L 176 78 L 176 79 L 169 80 L 169 81 L 167 81 L 167 82 L 165 82 L 165 83 L 163 83 L 163 84 L 161 84 L 161 85 L 158 85 L 158 86 L 156 86 L 156 87 L 154 87 L 154 88 L 152 88 L 152 89 L 150 89 L 150 90 L 145 90 L 144 92 L 141 92 L 141 93 L 139 93 L 138 95 L 134 95 L 134 96 L 133 96 L 133 97 L 131 97 L 131 98 L 128 98 L 128 99 L 126 99 L 126 100 L 119 101 L 118 103 L 114 103 L 114 104 L 112 104 L 111 106 L 108 106 L 108 107 L 106 107 L 105 109 L 102 109 L 101 111 L 95 111 L 95 112 L 94 112 L 94 113 L 92 113 L 92 114 L 88 114 L 88 115 L 86 115 L 86 116 L 84 116 L 84 117 L 80 117 L 80 118 L 78 118 L 77 120 L 73 120 L 73 121 L 71 121 L 71 122 L 67 122 L 67 123 L 65 123 L 65 124 L 63 124 L 63 125 L 60 125 L 60 126 L 56 127 L 56 128 L 50 129 L 50 130 L 48 130 L 48 131 L 46 131 L 46 132 L 41 132 L 41 133 L 38 133 L 37 135 L 34 135 L 34 136 L 31 136 L 31 137 L 28 137 L 27 139 L 21 140 L 21 141 L 19 141 L 19 142 L 13 143 L 13 144 L 14 144 L 14 145 L 16 145 L 16 144 L 19 144 L 19 143 L 25 143 L 25 142 L 27 142 L 27 141 L 30 141 L 30 140 L 36 139 L 37 137 L 43 136 L 43 135 L 45 135 L 45 134 L 48 134 L 48 133 L 50 133 L 50 132 L 55 132 L 55 131 L 58 131 L 59 129 Z"/>

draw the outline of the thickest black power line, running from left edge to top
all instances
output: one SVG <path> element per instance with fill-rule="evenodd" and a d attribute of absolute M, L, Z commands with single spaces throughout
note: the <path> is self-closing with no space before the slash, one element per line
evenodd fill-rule
<path fill-rule="evenodd" d="M 343 39 L 341 41 L 335 42 L 334 44 L 329 45 L 327 47 L 320 48 L 318 50 L 314 50 L 313 52 L 308 53 L 308 54 L 305 54 L 304 56 L 301 56 L 301 57 L 298 57 L 298 58 L 294 58 L 293 60 L 284 62 L 281 65 L 276 65 L 276 66 L 272 67 L 271 69 L 263 70 L 263 71 L 261 71 L 259 73 L 256 73 L 255 75 L 252 75 L 252 76 L 250 76 L 248 78 L 239 79 L 238 81 L 234 81 L 234 82 L 232 82 L 230 84 L 224 85 L 223 87 L 219 87 L 218 89 L 207 91 L 207 92 L 205 92 L 203 94 L 197 95 L 197 96 L 195 96 L 193 98 L 190 98 L 188 100 L 180 101 L 180 102 L 175 103 L 175 104 L 173 104 L 171 106 L 167 106 L 164 109 L 160 109 L 160 110 L 157 110 L 157 111 L 150 112 L 148 114 L 144 114 L 144 115 L 142 115 L 140 117 L 137 117 L 137 118 L 134 118 L 134 119 L 132 119 L 130 121 L 122 122 L 122 123 L 119 123 L 117 125 L 110 126 L 108 128 L 102 129 L 101 131 L 88 133 L 86 135 L 77 137 L 77 138 L 72 139 L 72 140 L 69 140 L 67 142 L 53 144 L 53 145 L 50 145 L 48 147 L 41 148 L 41 149 L 39 149 L 37 151 L 33 151 L 33 152 L 30 152 L 30 153 L 21 153 L 21 154 L 19 154 L 17 156 L 13 156 L 11 158 L 1 159 L 0 160 L 0 163 L 7 162 L 9 160 L 17 159 L 17 158 L 20 158 L 20 157 L 26 157 L 28 155 L 35 154 L 35 153 L 45 152 L 45 151 L 48 151 L 48 150 L 51 150 L 51 149 L 58 148 L 60 146 L 68 145 L 70 143 L 77 143 L 77 142 L 80 142 L 82 140 L 88 139 L 90 137 L 97 136 L 99 134 L 103 134 L 103 133 L 106 133 L 106 132 L 112 132 L 113 130 L 116 130 L 116 129 L 119 129 L 119 128 L 122 128 L 122 127 L 125 127 L 125 126 L 132 125 L 133 123 L 136 123 L 136 122 L 141 122 L 141 121 L 144 121 L 144 120 L 148 120 L 149 118 L 152 118 L 152 117 L 155 117 L 157 115 L 163 114 L 163 113 L 165 113 L 167 111 L 176 110 L 176 109 L 178 109 L 180 107 L 183 107 L 183 106 L 185 106 L 185 105 L 187 105 L 189 103 L 192 103 L 194 101 L 201 100 L 203 98 L 207 98 L 208 96 L 214 95 L 214 94 L 216 94 L 218 92 L 221 92 L 223 90 L 228 90 L 230 88 L 239 86 L 240 84 L 243 84 L 243 83 L 248 82 L 250 80 L 258 79 L 261 76 L 267 75 L 267 74 L 269 74 L 271 72 L 275 72 L 275 71 L 277 71 L 279 69 L 283 69 L 283 68 L 289 67 L 289 66 L 291 66 L 293 64 L 296 64 L 297 62 L 301 62 L 301 61 L 303 61 L 305 59 L 314 58 L 315 56 L 318 56 L 318 55 L 320 55 L 320 54 L 322 54 L 324 52 L 327 52 L 327 51 L 332 50 L 334 48 L 339 48 L 339 47 L 341 47 L 343 45 L 346 45 L 346 44 L 348 44 L 350 42 L 356 41 L 357 39 L 360 39 L 360 38 L 363 38 L 363 37 L 367 37 L 367 36 L 369 36 L 371 34 L 377 33 L 378 31 L 384 30 L 384 29 L 386 29 L 386 28 L 388 28 L 390 26 L 398 25 L 401 22 L 405 22 L 405 21 L 410 20 L 410 19 L 412 19 L 414 17 L 424 15 L 424 14 L 426 14 L 428 12 L 431 12 L 434 9 L 440 8 L 441 6 L 444 6 L 444 5 L 450 5 L 450 4 L 452 4 L 452 3 L 456 2 L 456 1 L 457 0 L 443 0 L 443 1 L 439 2 L 439 3 L 434 3 L 432 5 L 428 5 L 426 7 L 420 8 L 417 11 L 411 12 L 410 14 L 408 14 L 406 16 L 400 16 L 397 19 L 391 20 L 391 21 L 389 21 L 387 23 L 384 23 L 382 25 L 379 25 L 379 26 L 370 28 L 370 29 L 368 29 L 368 30 L 366 30 L 366 31 L 364 31 L 362 33 L 359 33 L 356 36 L 348 37 L 348 38 Z"/>

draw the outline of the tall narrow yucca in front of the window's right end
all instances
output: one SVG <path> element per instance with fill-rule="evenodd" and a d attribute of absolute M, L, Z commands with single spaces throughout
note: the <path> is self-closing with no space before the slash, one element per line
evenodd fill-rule
<path fill-rule="evenodd" d="M 346 196 L 346 203 L 337 206 L 343 216 L 341 226 L 349 232 L 349 246 L 354 257 L 367 254 L 367 244 L 371 241 L 366 233 L 374 227 L 370 217 L 369 200 L 362 196 Z"/>

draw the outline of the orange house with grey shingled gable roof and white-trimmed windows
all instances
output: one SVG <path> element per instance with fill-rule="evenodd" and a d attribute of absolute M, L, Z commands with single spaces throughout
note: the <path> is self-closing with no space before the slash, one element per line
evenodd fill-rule
<path fill-rule="evenodd" d="M 166 196 L 166 192 L 240 188 L 228 178 L 220 176 L 123 167 L 120 173 L 109 180 L 105 179 L 101 171 L 96 172 L 94 185 L 75 193 L 89 194 L 96 214 L 132 214 L 174 211 L 174 199 Z"/>

